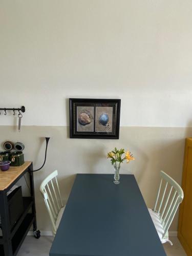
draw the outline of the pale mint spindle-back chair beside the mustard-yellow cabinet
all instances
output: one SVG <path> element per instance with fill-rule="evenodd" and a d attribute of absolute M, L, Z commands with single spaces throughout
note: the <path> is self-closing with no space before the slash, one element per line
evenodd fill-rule
<path fill-rule="evenodd" d="M 179 204 L 183 200 L 183 190 L 180 185 L 162 170 L 161 183 L 157 193 L 154 209 L 148 209 L 161 243 L 172 242 L 168 239 L 168 228 L 172 223 Z"/>

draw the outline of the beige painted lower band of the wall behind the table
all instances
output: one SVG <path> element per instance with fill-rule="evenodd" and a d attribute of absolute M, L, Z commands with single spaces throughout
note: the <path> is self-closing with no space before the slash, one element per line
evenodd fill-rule
<path fill-rule="evenodd" d="M 33 161 L 34 169 L 44 161 L 44 138 L 51 137 L 47 162 L 44 168 L 34 173 L 34 184 L 37 228 L 52 230 L 39 186 L 53 170 L 58 170 L 62 199 L 66 203 L 76 173 L 113 174 L 113 167 L 106 159 L 106 153 L 115 146 L 129 149 L 134 154 L 135 161 L 123 163 L 120 174 L 135 175 L 147 207 L 153 208 L 160 170 L 164 170 L 181 184 L 184 141 L 185 137 L 192 137 L 192 128 L 120 127 L 119 140 L 69 139 L 68 126 L 22 126 L 20 133 L 16 126 L 0 126 L 0 134 L 2 150 L 5 140 L 25 144 L 25 160 Z M 23 195 L 27 196 L 29 190 L 25 180 L 22 179 L 20 184 L 23 185 Z M 178 215 L 169 230 L 177 230 L 177 223 Z"/>

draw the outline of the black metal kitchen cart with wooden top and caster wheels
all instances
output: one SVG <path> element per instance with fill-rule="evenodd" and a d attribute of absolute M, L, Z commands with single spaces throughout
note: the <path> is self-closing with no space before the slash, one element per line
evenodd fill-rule
<path fill-rule="evenodd" d="M 10 167 L 6 172 L 0 170 L 0 215 L 2 236 L 0 236 L 0 255 L 15 256 L 33 224 L 34 237 L 40 237 L 37 230 L 35 194 L 33 182 L 33 163 L 25 162 L 19 167 Z M 23 197 L 24 211 L 13 227 L 10 226 L 7 192 L 26 173 L 30 179 L 30 197 Z"/>

